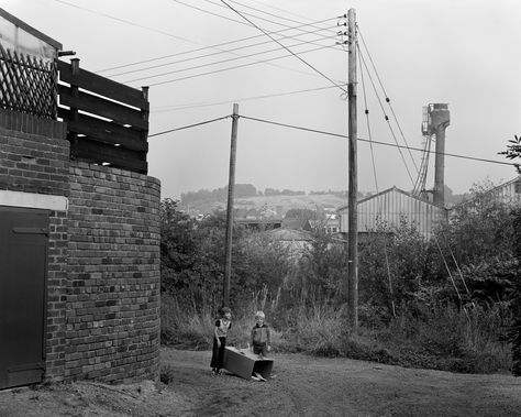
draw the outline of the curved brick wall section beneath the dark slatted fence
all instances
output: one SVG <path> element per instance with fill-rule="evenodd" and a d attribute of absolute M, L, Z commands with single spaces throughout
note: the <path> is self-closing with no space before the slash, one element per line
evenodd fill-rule
<path fill-rule="evenodd" d="M 158 375 L 159 182 L 71 163 L 66 378 Z"/>

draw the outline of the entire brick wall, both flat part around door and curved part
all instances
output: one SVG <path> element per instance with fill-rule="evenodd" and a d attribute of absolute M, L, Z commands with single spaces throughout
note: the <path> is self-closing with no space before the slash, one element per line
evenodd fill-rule
<path fill-rule="evenodd" d="M 159 182 L 69 161 L 64 123 L 0 110 L 0 191 L 49 210 L 48 381 L 151 378 L 159 363 Z"/>

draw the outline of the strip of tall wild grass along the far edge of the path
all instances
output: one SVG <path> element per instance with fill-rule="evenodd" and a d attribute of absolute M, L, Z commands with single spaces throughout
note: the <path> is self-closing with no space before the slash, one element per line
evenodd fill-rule
<path fill-rule="evenodd" d="M 180 309 L 171 296 L 162 298 L 162 341 L 179 349 L 211 349 L 214 320 L 211 311 Z M 465 373 L 508 372 L 510 345 L 502 340 L 508 309 L 495 305 L 484 309 L 457 309 L 436 305 L 415 316 L 399 316 L 387 326 L 352 332 L 346 311 L 328 303 L 282 308 L 253 295 L 233 311 L 228 344 L 245 348 L 254 326 L 254 314 L 264 309 L 271 327 L 271 345 L 278 352 L 302 352 L 319 356 L 345 356 L 403 366 Z"/>

